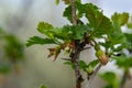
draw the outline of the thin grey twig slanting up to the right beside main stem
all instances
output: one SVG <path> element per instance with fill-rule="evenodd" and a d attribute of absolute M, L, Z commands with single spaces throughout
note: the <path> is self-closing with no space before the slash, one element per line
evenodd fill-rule
<path fill-rule="evenodd" d="M 97 75 L 97 73 L 99 72 L 99 69 L 101 68 L 101 64 L 99 64 L 97 66 L 97 68 L 95 69 L 95 72 L 91 74 L 91 75 L 88 75 L 87 79 L 88 79 L 88 82 L 86 85 L 86 88 L 90 88 L 90 84 L 91 81 L 94 80 L 95 76 Z"/>

